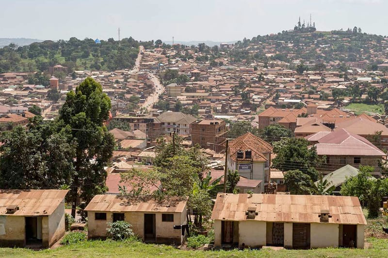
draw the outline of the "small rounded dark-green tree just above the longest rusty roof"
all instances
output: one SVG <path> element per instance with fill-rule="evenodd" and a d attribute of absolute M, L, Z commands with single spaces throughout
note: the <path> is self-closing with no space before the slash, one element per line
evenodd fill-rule
<path fill-rule="evenodd" d="M 309 195 L 314 184 L 311 178 L 299 169 L 288 170 L 284 175 L 284 183 L 291 195 Z"/>

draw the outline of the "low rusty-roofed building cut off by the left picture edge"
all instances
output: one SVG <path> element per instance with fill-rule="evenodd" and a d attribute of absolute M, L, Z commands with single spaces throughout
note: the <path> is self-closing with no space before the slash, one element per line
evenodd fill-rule
<path fill-rule="evenodd" d="M 50 247 L 65 234 L 68 190 L 0 190 L 0 246 Z"/>

